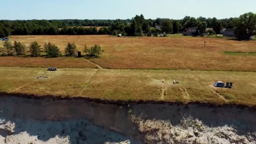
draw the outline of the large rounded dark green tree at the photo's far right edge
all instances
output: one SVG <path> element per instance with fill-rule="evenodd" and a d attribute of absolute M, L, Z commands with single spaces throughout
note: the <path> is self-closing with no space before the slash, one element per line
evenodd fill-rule
<path fill-rule="evenodd" d="M 235 35 L 240 39 L 250 39 L 256 34 L 256 14 L 245 13 L 233 20 Z"/>

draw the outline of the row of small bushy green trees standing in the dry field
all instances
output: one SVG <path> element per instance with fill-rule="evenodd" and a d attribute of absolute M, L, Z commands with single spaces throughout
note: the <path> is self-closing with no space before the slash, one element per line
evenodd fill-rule
<path fill-rule="evenodd" d="M 100 45 L 94 45 L 88 48 L 86 45 L 83 48 L 85 56 L 99 57 L 104 50 L 101 50 Z M 31 42 L 29 46 L 23 43 L 10 41 L 3 43 L 3 48 L 0 48 L 0 56 L 31 56 L 37 57 L 44 53 L 47 58 L 56 58 L 61 56 L 59 48 L 52 43 L 44 43 L 43 48 L 36 41 Z M 29 55 L 28 55 L 29 54 Z M 77 56 L 77 46 L 75 43 L 68 43 L 65 47 L 65 56 Z"/>

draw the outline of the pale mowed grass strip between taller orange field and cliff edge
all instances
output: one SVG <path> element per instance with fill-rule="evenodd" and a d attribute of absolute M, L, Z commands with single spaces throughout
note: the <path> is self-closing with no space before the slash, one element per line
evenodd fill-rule
<path fill-rule="evenodd" d="M 123 101 L 207 102 L 256 106 L 256 72 L 0 67 L 0 92 Z M 165 83 L 162 83 L 165 79 Z M 175 79 L 180 84 L 173 84 Z M 221 80 L 234 87 L 215 88 Z"/>

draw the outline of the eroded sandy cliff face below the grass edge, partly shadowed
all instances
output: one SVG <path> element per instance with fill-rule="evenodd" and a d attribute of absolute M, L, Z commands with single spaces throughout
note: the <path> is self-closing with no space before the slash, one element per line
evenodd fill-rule
<path fill-rule="evenodd" d="M 0 144 L 256 143 L 256 109 L 0 97 Z"/>

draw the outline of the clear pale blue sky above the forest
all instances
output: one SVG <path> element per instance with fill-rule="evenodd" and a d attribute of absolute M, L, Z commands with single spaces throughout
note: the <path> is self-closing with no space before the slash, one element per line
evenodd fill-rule
<path fill-rule="evenodd" d="M 1 2 L 2 1 L 2 2 Z M 1 0 L 0 19 L 182 19 L 256 13 L 256 0 Z"/>

